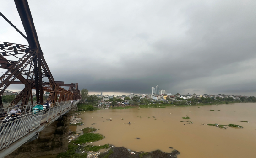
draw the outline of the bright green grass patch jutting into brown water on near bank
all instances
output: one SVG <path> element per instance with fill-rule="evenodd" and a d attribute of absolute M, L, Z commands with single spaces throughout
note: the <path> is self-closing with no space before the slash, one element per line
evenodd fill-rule
<path fill-rule="evenodd" d="M 84 133 L 73 141 L 75 144 L 82 144 L 86 142 L 95 142 L 103 139 L 104 136 L 98 133 Z"/>

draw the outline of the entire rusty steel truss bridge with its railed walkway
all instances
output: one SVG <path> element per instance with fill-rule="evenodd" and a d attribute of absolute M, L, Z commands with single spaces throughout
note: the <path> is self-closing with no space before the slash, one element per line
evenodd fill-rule
<path fill-rule="evenodd" d="M 22 115 L 20 119 L 3 124 L 0 121 L 0 157 L 14 151 L 50 123 L 60 118 L 73 106 L 78 104 L 81 93 L 78 83 L 64 84 L 55 81 L 44 59 L 40 47 L 37 32 L 27 0 L 14 0 L 17 11 L 26 32 L 26 36 L 9 21 L 1 12 L 2 16 L 13 28 L 24 37 L 28 45 L 0 41 L 0 112 L 8 112 L 11 107 L 21 103 Z M 24 89 L 4 109 L 2 96 L 11 84 L 23 84 Z M 68 87 L 68 90 L 61 88 Z M 32 89 L 36 92 L 36 103 L 51 101 L 53 107 L 43 115 L 43 112 L 33 114 L 29 100 L 33 105 Z M 45 99 L 44 92 L 49 92 Z M 77 100 L 71 103 L 70 100 Z"/>

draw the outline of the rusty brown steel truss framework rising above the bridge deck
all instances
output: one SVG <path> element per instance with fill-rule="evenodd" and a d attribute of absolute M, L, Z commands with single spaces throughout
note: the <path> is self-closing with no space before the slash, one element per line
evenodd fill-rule
<path fill-rule="evenodd" d="M 14 1 L 27 36 L 1 12 L 0 16 L 27 40 L 28 45 L 0 41 L 0 71 L 4 73 L 0 77 L 0 109 L 3 108 L 1 97 L 11 84 L 23 84 L 24 89 L 8 107 L 16 105 L 20 100 L 21 105 L 27 105 L 30 98 L 32 102 L 32 89 L 36 91 L 37 103 L 41 104 L 46 101 L 44 91 L 50 93 L 47 101 L 53 103 L 81 99 L 78 83 L 64 84 L 54 80 L 44 59 L 27 0 Z M 61 86 L 67 86 L 69 90 Z"/>

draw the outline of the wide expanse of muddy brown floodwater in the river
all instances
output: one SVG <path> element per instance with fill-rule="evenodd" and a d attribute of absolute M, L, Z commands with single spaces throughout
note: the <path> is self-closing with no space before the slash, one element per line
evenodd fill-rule
<path fill-rule="evenodd" d="M 189 116 L 194 124 L 180 122 L 186 121 L 181 118 L 185 116 Z M 256 158 L 256 103 L 102 109 L 82 112 L 79 117 L 84 125 L 78 126 L 77 131 L 93 126 L 105 136 L 94 145 L 109 143 L 144 152 L 157 149 L 171 152 L 173 149 L 169 147 L 173 147 L 180 151 L 178 158 Z M 112 121 L 103 122 L 110 118 Z M 129 121 L 131 125 L 127 124 Z M 220 129 L 202 125 L 204 123 L 233 123 L 244 128 Z"/>

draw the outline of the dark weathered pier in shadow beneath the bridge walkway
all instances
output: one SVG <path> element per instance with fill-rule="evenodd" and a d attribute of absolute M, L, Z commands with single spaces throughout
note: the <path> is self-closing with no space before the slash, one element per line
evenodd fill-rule
<path fill-rule="evenodd" d="M 29 140 L 5 158 L 33 158 L 65 152 L 68 148 L 69 121 L 70 116 L 64 114 L 33 137 L 35 140 Z"/>

